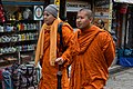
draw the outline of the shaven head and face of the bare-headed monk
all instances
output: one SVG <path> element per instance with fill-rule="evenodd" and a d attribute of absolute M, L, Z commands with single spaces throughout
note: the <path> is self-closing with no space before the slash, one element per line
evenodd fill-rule
<path fill-rule="evenodd" d="M 89 29 L 91 20 L 89 19 L 88 12 L 82 10 L 76 16 L 76 27 L 81 30 Z"/>

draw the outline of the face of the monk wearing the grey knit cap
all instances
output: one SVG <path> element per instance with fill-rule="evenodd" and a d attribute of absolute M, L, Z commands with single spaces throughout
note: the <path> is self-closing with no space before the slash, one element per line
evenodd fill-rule
<path fill-rule="evenodd" d="M 44 11 L 43 16 L 44 16 L 44 23 L 47 23 L 48 26 L 52 24 L 53 21 L 55 20 L 55 18 L 48 11 Z"/>

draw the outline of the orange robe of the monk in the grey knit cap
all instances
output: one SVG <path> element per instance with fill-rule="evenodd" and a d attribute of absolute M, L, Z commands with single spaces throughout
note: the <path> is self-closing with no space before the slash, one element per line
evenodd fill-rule
<path fill-rule="evenodd" d="M 64 63 L 62 68 L 62 89 L 69 89 L 69 78 L 66 73 L 66 66 L 69 65 L 69 60 L 74 56 L 76 50 L 73 30 L 69 24 L 63 24 L 62 27 L 62 38 L 64 47 L 68 49 L 62 53 L 60 48 L 60 34 L 57 34 L 57 58 L 62 57 L 66 63 Z M 57 89 L 58 85 L 58 65 L 50 65 L 50 29 L 44 29 L 44 48 L 43 48 L 43 58 L 42 62 L 42 78 L 40 79 L 39 89 Z M 74 46 L 74 47 L 73 47 Z"/>

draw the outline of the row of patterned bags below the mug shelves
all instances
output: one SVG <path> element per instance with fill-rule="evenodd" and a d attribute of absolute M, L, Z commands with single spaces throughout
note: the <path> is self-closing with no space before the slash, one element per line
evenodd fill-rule
<path fill-rule="evenodd" d="M 37 89 L 40 70 L 33 65 L 18 65 L 0 69 L 2 77 L 2 89 Z"/>

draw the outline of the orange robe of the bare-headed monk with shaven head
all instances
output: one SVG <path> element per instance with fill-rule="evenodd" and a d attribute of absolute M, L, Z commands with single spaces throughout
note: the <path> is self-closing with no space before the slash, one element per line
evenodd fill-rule
<path fill-rule="evenodd" d="M 109 78 L 108 68 L 115 57 L 115 46 L 110 33 L 92 26 L 78 30 L 80 53 L 73 58 L 70 89 L 103 89 Z"/>

